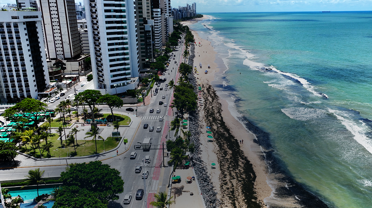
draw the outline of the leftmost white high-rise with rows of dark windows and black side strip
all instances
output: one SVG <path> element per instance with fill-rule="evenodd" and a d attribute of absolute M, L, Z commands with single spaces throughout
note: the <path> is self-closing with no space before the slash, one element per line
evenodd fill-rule
<path fill-rule="evenodd" d="M 0 99 L 36 98 L 49 86 L 41 12 L 0 12 Z"/>

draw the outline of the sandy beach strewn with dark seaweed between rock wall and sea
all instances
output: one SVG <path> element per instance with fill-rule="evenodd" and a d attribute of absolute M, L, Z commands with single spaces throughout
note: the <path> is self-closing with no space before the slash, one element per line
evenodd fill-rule
<path fill-rule="evenodd" d="M 203 18 L 182 23 L 190 25 L 208 18 L 205 15 Z M 263 200 L 271 195 L 272 189 L 266 182 L 266 165 L 260 159 L 262 151 L 259 145 L 253 142 L 254 134 L 248 132 L 231 115 L 227 101 L 221 99 L 211 86 L 215 75 L 222 70 L 216 63 L 217 52 L 213 50 L 210 41 L 200 38 L 195 31 L 192 33 L 196 41 L 194 65 L 197 67 L 197 73 L 194 75 L 202 87 L 199 94 L 202 150 L 200 156 L 208 164 L 208 174 L 215 186 L 217 198 L 222 202 L 222 207 L 246 207 L 250 201 L 256 201 L 260 207 L 266 207 Z M 202 64 L 202 68 L 199 67 L 199 63 Z M 207 74 L 204 73 L 205 70 L 208 70 Z M 210 116 L 217 120 L 211 122 L 206 119 Z M 207 137 L 206 126 L 211 127 L 215 142 L 208 142 L 210 139 Z M 224 138 L 224 142 L 220 142 L 219 138 Z M 240 144 L 241 139 L 244 140 L 243 144 Z M 214 169 L 211 168 L 211 163 L 216 164 Z"/>

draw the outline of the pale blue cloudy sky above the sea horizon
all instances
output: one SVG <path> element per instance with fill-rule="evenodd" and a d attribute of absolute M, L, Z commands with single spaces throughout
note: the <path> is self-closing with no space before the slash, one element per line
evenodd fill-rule
<path fill-rule="evenodd" d="M 75 0 L 76 3 L 83 0 Z M 307 12 L 371 11 L 372 0 L 171 0 L 171 6 L 196 2 L 197 13 L 208 12 Z M 0 0 L 0 5 L 15 0 Z"/>

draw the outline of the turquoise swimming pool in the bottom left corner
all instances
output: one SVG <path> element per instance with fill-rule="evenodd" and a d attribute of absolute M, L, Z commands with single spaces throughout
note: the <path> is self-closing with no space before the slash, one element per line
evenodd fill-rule
<path fill-rule="evenodd" d="M 39 195 L 48 193 L 51 194 L 53 188 L 46 188 L 46 189 L 39 189 Z M 38 196 L 38 193 L 36 189 L 31 190 L 19 190 L 19 191 L 10 191 L 9 192 L 12 197 L 14 196 L 21 196 L 23 198 L 23 204 L 21 204 L 21 208 L 29 208 L 29 207 L 35 207 L 36 203 L 33 202 L 33 199 L 35 199 L 36 196 Z M 48 202 L 44 204 L 44 206 L 47 206 L 47 208 L 51 208 L 53 206 L 54 202 Z"/>

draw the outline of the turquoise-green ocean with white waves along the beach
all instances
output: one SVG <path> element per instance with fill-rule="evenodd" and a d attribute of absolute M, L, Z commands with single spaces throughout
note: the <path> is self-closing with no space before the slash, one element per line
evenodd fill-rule
<path fill-rule="evenodd" d="M 371 207 L 372 12 L 203 15 L 190 28 L 212 41 L 212 84 L 263 147 L 269 207 Z"/>

